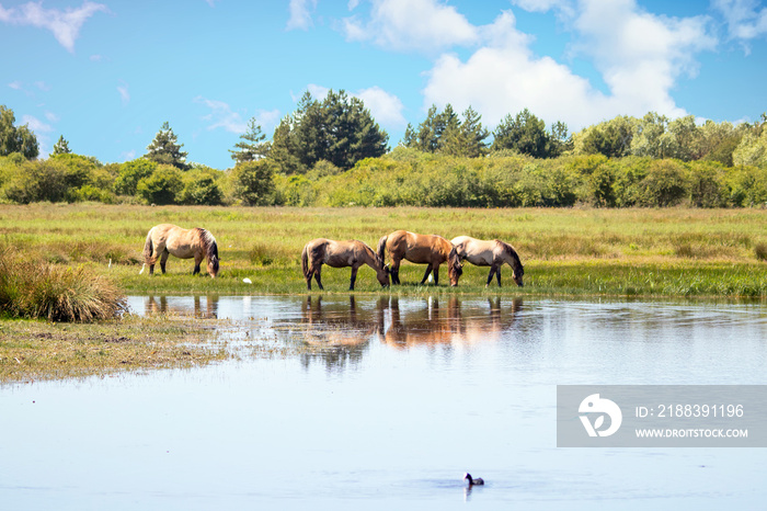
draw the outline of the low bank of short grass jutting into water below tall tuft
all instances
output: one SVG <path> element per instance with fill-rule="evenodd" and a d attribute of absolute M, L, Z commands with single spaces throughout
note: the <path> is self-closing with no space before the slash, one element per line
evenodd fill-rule
<path fill-rule="evenodd" d="M 173 315 L 77 325 L 0 320 L 0 383 L 207 364 L 232 356 L 217 322 Z"/>

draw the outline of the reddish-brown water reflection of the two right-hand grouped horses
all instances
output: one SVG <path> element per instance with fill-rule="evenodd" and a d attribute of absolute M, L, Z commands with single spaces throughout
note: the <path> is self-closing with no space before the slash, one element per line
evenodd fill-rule
<path fill-rule="evenodd" d="M 463 307 L 455 296 L 450 296 L 444 306 L 437 298 L 430 297 L 425 302 L 425 307 L 403 311 L 398 297 L 390 299 L 391 325 L 384 333 L 386 344 L 397 349 L 416 345 L 451 348 L 499 341 L 512 327 L 514 316 L 522 307 L 520 299 L 504 305 L 500 297 L 488 298 L 486 313 Z"/>

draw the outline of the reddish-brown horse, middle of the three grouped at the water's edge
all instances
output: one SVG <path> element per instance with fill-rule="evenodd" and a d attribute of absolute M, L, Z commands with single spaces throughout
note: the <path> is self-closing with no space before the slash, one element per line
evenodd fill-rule
<path fill-rule="evenodd" d="M 434 272 L 434 285 L 439 284 L 439 264 L 447 261 L 450 285 L 457 286 L 463 269 L 456 248 L 442 236 L 416 235 L 407 230 L 396 230 L 378 240 L 378 257 L 385 260 L 386 251 L 391 258 L 391 282 L 400 283 L 400 262 L 407 259 L 417 264 L 428 264 L 421 284 Z"/>

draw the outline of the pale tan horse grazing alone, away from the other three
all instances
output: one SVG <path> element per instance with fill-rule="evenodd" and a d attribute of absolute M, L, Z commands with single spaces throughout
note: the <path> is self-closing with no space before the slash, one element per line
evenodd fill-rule
<path fill-rule="evenodd" d="M 149 264 L 149 274 L 154 273 L 154 263 L 160 258 L 160 268 L 165 273 L 168 256 L 173 254 L 179 259 L 194 258 L 193 275 L 199 273 L 199 263 L 207 259 L 208 274 L 216 277 L 218 274 L 218 245 L 213 235 L 199 227 L 182 229 L 172 224 L 160 224 L 149 229 L 147 241 L 144 243 L 144 268 Z"/>

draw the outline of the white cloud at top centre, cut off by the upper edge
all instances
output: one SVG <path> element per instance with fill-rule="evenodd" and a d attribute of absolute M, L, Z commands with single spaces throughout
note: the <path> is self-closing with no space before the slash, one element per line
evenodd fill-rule
<path fill-rule="evenodd" d="M 478 29 L 439 0 L 373 0 L 370 20 L 343 20 L 348 41 L 371 41 L 394 50 L 435 52 L 479 41 Z"/>

